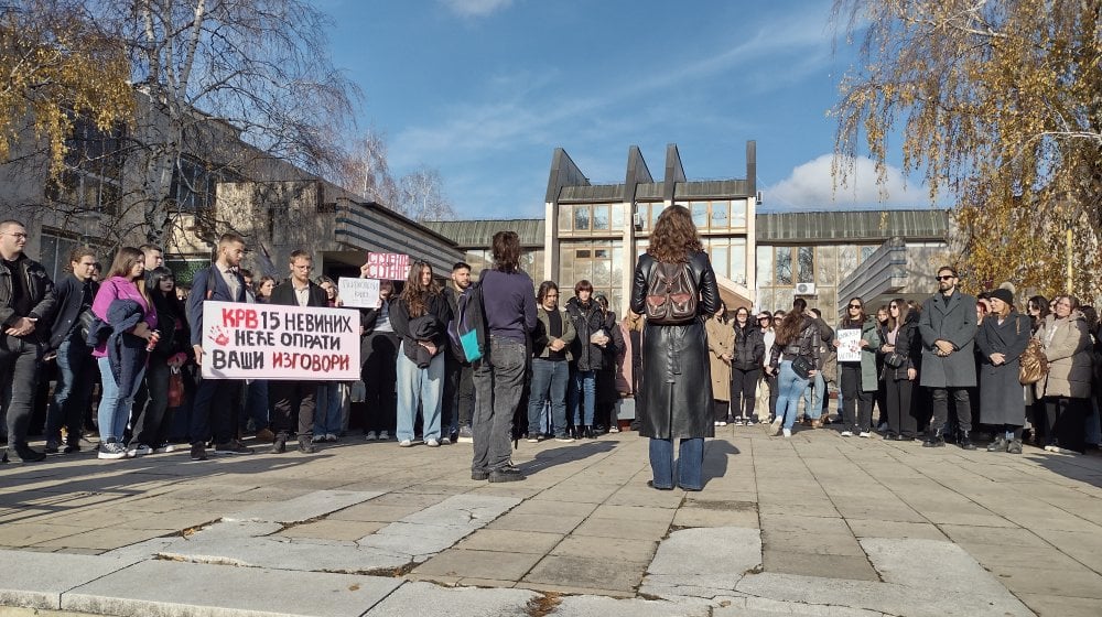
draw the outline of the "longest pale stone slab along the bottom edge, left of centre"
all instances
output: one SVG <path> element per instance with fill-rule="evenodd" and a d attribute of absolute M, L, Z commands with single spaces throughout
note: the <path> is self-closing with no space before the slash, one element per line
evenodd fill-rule
<path fill-rule="evenodd" d="M 61 608 L 158 617 L 358 617 L 400 585 L 400 578 L 379 576 L 145 561 L 63 594 Z"/>

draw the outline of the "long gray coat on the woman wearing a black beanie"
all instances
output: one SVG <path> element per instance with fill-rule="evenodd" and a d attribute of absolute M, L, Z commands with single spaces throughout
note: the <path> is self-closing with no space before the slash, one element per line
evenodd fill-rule
<path fill-rule="evenodd" d="M 1025 425 L 1026 403 L 1018 367 L 1029 343 L 1030 326 L 1029 317 L 1017 311 L 1011 311 L 1002 324 L 995 315 L 987 315 L 980 325 L 975 335 L 980 349 L 980 422 Z M 991 355 L 996 353 L 1006 356 L 1004 364 L 991 364 Z"/>

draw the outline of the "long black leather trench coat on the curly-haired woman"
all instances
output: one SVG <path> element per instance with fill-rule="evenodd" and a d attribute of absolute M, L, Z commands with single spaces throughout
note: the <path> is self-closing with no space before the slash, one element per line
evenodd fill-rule
<path fill-rule="evenodd" d="M 639 257 L 631 284 L 631 311 L 646 314 L 647 281 L 657 261 Z M 642 331 L 640 390 L 647 401 L 639 434 L 661 440 L 712 437 L 712 379 L 704 318 L 720 306 L 720 290 L 707 255 L 696 252 L 689 268 L 700 292 L 696 321 L 673 326 L 647 324 Z"/>

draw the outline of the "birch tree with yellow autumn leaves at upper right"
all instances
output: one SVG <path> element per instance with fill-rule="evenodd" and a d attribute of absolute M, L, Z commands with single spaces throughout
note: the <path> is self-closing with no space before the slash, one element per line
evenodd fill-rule
<path fill-rule="evenodd" d="M 953 218 L 971 289 L 1094 296 L 1102 266 L 1102 0 L 835 0 L 861 37 L 841 86 L 835 182 L 889 141 Z M 894 152 L 894 151 L 892 151 Z M 1071 229 L 1072 251 L 1066 250 Z"/>

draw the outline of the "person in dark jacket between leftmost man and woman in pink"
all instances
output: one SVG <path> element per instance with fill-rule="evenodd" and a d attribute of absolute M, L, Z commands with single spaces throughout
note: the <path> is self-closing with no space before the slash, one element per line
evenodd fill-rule
<path fill-rule="evenodd" d="M 46 453 L 61 450 L 61 427 L 65 426 L 65 454 L 80 450 L 84 413 L 91 399 L 96 379 L 96 361 L 85 343 L 80 314 L 91 308 L 99 283 L 91 280 L 96 253 L 78 247 L 69 253 L 72 275 L 54 285 L 57 317 L 50 329 L 50 349 L 57 354 L 57 386 L 54 400 L 46 410 Z"/>

